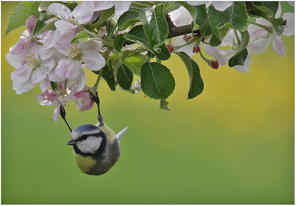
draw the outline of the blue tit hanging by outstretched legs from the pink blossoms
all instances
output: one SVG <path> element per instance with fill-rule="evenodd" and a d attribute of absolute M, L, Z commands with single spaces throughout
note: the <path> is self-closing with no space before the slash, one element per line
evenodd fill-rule
<path fill-rule="evenodd" d="M 121 155 L 119 141 L 127 127 L 115 135 L 113 130 L 104 123 L 98 93 L 96 96 L 90 91 L 89 93 L 98 105 L 99 122 L 96 125 L 81 125 L 73 131 L 66 120 L 65 108 L 62 105 L 60 114 L 70 129 L 71 140 L 67 145 L 72 145 L 74 158 L 81 172 L 88 175 L 102 175 L 119 160 Z"/>

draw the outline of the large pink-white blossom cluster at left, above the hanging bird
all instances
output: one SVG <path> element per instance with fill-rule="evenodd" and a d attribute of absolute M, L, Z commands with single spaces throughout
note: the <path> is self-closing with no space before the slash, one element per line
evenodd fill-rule
<path fill-rule="evenodd" d="M 56 30 L 46 31 L 37 37 L 32 35 L 37 17 L 31 15 L 26 21 L 27 30 L 6 55 L 8 63 L 16 69 L 11 73 L 16 93 L 27 92 L 39 83 L 43 94 L 37 95 L 37 101 L 40 105 L 56 105 L 55 122 L 60 116 L 60 105 L 68 104 L 69 100 L 75 100 L 80 112 L 92 108 L 94 101 L 88 91 L 91 87 L 86 86 L 83 67 L 99 71 L 105 66 L 105 58 L 100 53 L 103 44 L 98 40 L 78 44 L 71 41 L 82 30 L 81 24 L 96 18 L 97 11 L 115 5 L 115 14 L 120 16 L 128 10 L 130 3 L 81 2 L 72 12 L 63 4 L 53 3 L 47 10 L 59 17 L 54 23 Z M 58 85 L 54 90 L 51 83 L 55 82 Z"/>

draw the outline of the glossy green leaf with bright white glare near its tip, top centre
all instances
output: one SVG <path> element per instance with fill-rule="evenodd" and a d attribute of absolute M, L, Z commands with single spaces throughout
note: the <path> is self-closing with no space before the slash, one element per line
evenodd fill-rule
<path fill-rule="evenodd" d="M 143 9 L 139 17 L 151 48 L 160 52 L 159 46 L 165 42 L 169 33 L 167 20 L 163 14 L 163 5 Z"/>

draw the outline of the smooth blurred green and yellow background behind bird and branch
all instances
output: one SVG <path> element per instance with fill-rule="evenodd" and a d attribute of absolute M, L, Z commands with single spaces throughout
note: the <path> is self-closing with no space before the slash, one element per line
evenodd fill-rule
<path fill-rule="evenodd" d="M 19 2 L 1 2 L 2 204 L 294 204 L 294 35 L 286 56 L 253 54 L 250 73 L 210 68 L 200 57 L 204 91 L 187 100 L 189 77 L 179 57 L 163 63 L 174 93 L 159 101 L 99 85 L 105 123 L 121 140 L 121 158 L 106 174 L 80 172 L 55 106 L 36 100 L 39 85 L 17 95 L 5 60 L 24 28 L 3 38 Z M 294 8 L 282 2 L 283 13 Z M 88 85 L 95 75 L 87 73 Z M 66 108 L 72 128 L 97 123 L 97 109 Z"/>

